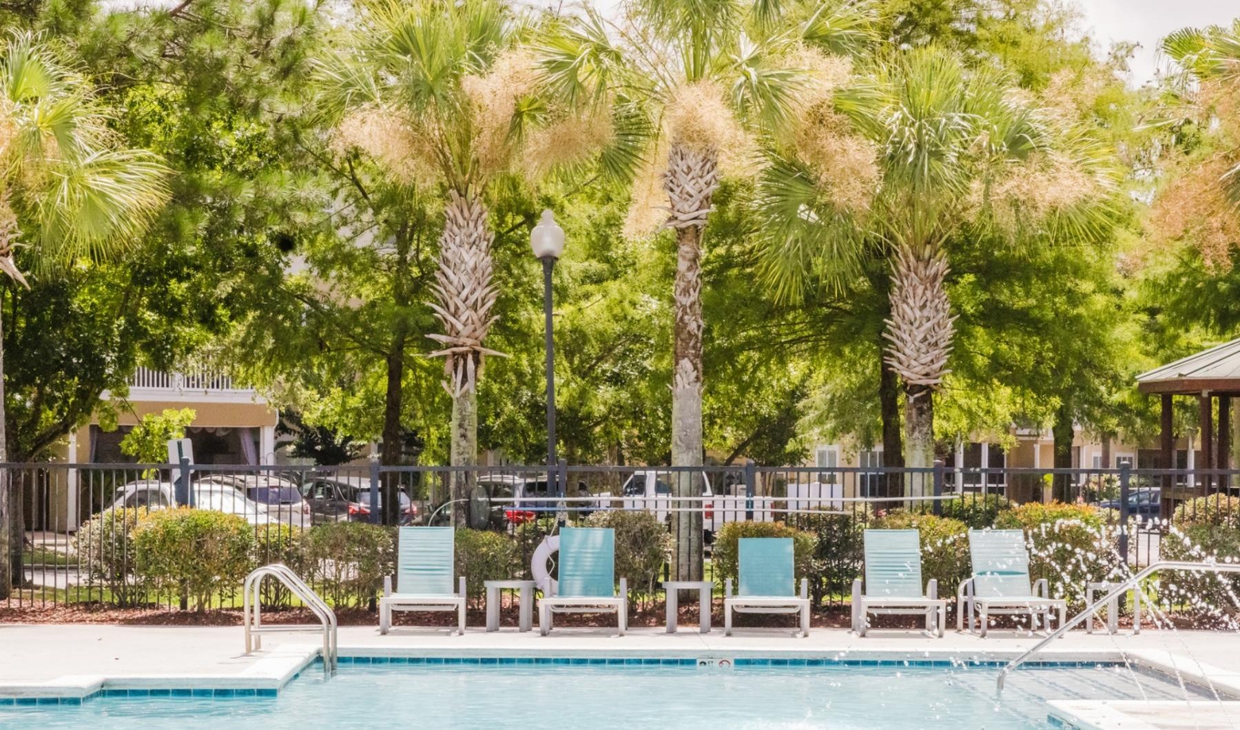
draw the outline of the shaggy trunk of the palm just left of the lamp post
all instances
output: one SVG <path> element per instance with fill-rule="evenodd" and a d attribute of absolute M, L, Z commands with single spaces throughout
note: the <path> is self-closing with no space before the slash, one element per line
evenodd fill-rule
<path fill-rule="evenodd" d="M 444 345 L 433 353 L 444 356 L 444 388 L 453 397 L 451 465 L 477 465 L 477 378 L 482 357 L 502 354 L 482 347 L 482 340 L 495 322 L 495 289 L 491 286 L 491 231 L 486 204 L 477 196 L 451 190 L 444 207 L 444 233 L 439 239 L 439 270 L 432 290 L 432 302 L 444 326 L 443 335 L 428 335 Z M 476 475 L 471 470 L 453 472 L 450 498 L 465 499 Z M 465 526 L 467 506 L 456 502 L 454 524 Z"/>

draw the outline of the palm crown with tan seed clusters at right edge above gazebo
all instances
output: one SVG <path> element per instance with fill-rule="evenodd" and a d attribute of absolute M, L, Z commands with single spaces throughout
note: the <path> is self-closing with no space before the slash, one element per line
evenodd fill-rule
<path fill-rule="evenodd" d="M 1162 51 L 1179 74 L 1172 124 L 1195 121 L 1202 141 L 1184 170 L 1171 176 L 1154 204 L 1164 237 L 1189 239 L 1211 266 L 1230 266 L 1240 240 L 1240 20 L 1230 27 L 1183 29 Z"/>

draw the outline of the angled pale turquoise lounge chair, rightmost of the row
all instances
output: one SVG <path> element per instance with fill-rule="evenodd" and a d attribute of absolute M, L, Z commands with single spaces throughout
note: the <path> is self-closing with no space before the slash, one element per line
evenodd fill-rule
<path fill-rule="evenodd" d="M 1030 627 L 1038 630 L 1038 618 L 1045 620 L 1047 630 L 1055 609 L 1059 625 L 1068 618 L 1068 602 L 1050 597 L 1047 579 L 1029 583 L 1029 552 L 1024 547 L 1024 532 L 1019 529 L 968 530 L 968 554 L 973 560 L 973 575 L 960 584 L 956 591 L 956 630 L 963 630 L 965 606 L 968 606 L 968 630 L 973 631 L 975 611 L 980 613 L 981 630 L 986 636 L 991 613 L 1029 615 Z"/>

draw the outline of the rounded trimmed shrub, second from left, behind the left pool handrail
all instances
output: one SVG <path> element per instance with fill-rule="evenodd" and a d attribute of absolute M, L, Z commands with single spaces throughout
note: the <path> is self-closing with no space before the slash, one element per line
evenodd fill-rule
<path fill-rule="evenodd" d="M 139 578 L 190 599 L 197 611 L 211 606 L 217 592 L 242 584 L 253 550 L 254 528 L 213 509 L 160 509 L 134 530 Z"/>

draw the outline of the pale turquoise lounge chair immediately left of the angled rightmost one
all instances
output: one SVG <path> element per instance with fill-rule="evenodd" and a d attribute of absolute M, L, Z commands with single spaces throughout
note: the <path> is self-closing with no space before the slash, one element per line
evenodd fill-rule
<path fill-rule="evenodd" d="M 930 579 L 921 589 L 921 535 L 915 529 L 867 529 L 866 591 L 853 580 L 853 631 L 866 636 L 874 615 L 925 613 L 926 631 L 942 636 L 947 623 L 947 600 L 939 597 L 939 581 Z"/>

